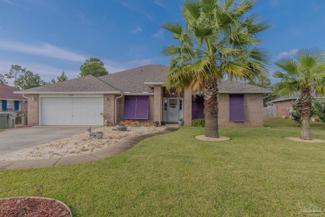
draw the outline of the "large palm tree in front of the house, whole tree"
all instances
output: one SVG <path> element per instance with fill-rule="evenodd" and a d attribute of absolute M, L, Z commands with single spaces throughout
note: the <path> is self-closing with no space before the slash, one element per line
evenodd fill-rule
<path fill-rule="evenodd" d="M 267 21 L 246 13 L 254 0 L 184 0 L 181 14 L 186 26 L 168 22 L 162 26 L 172 33 L 178 46 L 165 46 L 172 55 L 166 88 L 180 94 L 185 89 L 204 95 L 205 136 L 219 138 L 218 84 L 225 77 L 245 80 L 267 71 L 269 55 L 258 49 L 258 33 L 270 28 Z M 243 17 L 246 17 L 245 19 Z"/>

